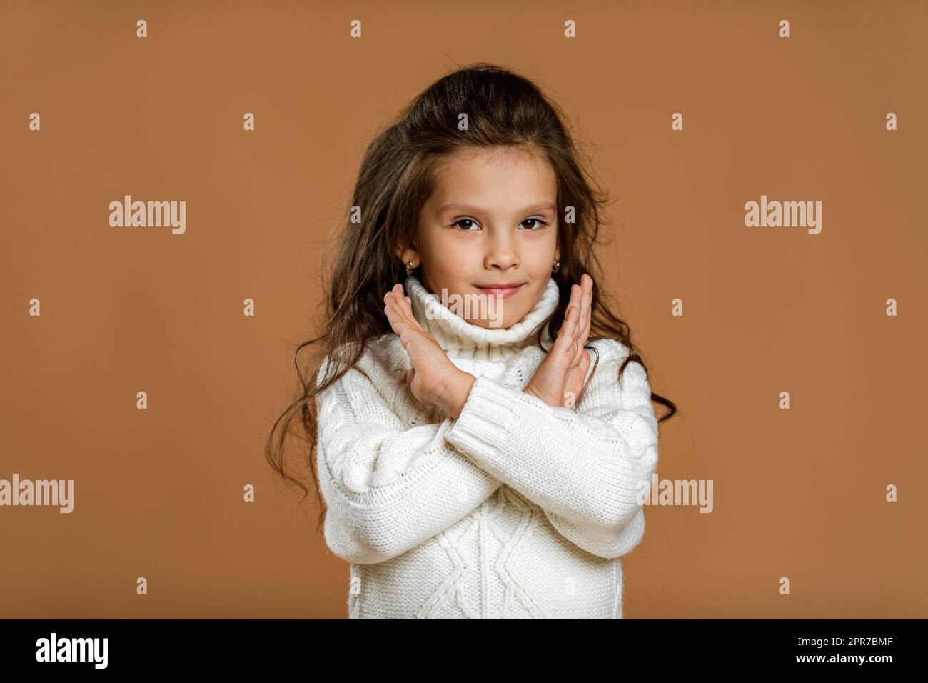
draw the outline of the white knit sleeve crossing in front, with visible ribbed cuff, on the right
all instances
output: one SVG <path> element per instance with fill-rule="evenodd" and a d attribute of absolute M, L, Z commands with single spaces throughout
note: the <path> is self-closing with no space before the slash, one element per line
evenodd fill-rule
<path fill-rule="evenodd" d="M 618 558 L 644 534 L 657 420 L 638 361 L 625 366 L 619 386 L 627 347 L 612 339 L 593 345 L 599 366 L 575 410 L 479 376 L 445 438 L 540 506 L 574 545 Z"/>

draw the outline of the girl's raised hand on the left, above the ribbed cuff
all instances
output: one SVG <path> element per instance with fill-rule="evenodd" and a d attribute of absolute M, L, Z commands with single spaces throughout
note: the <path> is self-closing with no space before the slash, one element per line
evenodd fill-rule
<path fill-rule="evenodd" d="M 386 304 L 384 312 L 390 326 L 399 335 L 400 343 L 406 348 L 412 363 L 406 381 L 413 396 L 422 403 L 438 406 L 451 414 L 449 401 L 454 399 L 461 402 L 458 394 L 465 373 L 451 362 L 435 337 L 422 329 L 413 316 L 412 302 L 408 296 L 403 296 L 402 284 L 397 282 L 393 285 L 393 289 L 383 297 L 383 302 Z"/>

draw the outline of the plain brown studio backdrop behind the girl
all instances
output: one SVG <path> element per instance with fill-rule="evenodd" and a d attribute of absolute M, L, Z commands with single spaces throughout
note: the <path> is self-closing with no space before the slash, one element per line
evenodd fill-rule
<path fill-rule="evenodd" d="M 75 479 L 75 507 L 0 508 L 0 615 L 345 616 L 264 434 L 368 142 L 491 61 L 621 197 L 600 285 L 681 409 L 658 475 L 715 481 L 711 514 L 649 508 L 625 617 L 928 617 L 928 6 L 696 5 L 4 2 L 0 479 Z M 186 201 L 187 233 L 111 228 L 125 194 Z M 821 234 L 746 228 L 761 194 L 821 201 Z"/>

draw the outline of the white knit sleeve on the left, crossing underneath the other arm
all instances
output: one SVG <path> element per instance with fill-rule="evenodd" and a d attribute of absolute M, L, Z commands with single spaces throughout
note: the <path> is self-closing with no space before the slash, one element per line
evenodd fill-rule
<path fill-rule="evenodd" d="M 382 368 L 365 367 L 385 374 Z M 325 364 L 320 369 L 320 376 Z M 371 375 L 373 376 L 373 375 Z M 389 377 L 378 386 L 392 387 Z M 502 482 L 447 443 L 453 420 L 409 427 L 354 367 L 316 396 L 326 544 L 354 564 L 405 553 L 480 506 Z M 410 395 L 411 396 L 411 395 Z"/>

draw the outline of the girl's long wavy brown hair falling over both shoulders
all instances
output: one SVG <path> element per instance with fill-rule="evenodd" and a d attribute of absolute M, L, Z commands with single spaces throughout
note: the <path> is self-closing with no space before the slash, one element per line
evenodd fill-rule
<path fill-rule="evenodd" d="M 461 113 L 466 113 L 468 119 L 463 130 L 458 126 Z M 432 194 L 433 166 L 449 152 L 509 147 L 547 157 L 557 177 L 558 216 L 564 217 L 568 207 L 573 207 L 574 217 L 573 222 L 558 221 L 561 265 L 551 277 L 558 283 L 561 301 L 548 318 L 551 337 L 556 338 L 561 328 L 571 285 L 579 283 L 586 272 L 593 278 L 588 339 L 608 337 L 629 348 L 617 381 L 621 382 L 625 365 L 630 361 L 641 363 L 647 373 L 647 366 L 632 344 L 628 324 L 602 300 L 599 283 L 604 280 L 593 247 L 599 243 L 600 225 L 608 223 L 605 220 L 608 193 L 597 189 L 589 171 L 579 163 L 578 149 L 563 123 L 566 120 L 537 85 L 508 69 L 481 62 L 460 68 L 430 85 L 367 148 L 334 262 L 330 270 L 320 270 L 330 272 L 321 334 L 294 349 L 293 365 L 302 388 L 277 417 L 264 447 L 267 462 L 285 481 L 300 487 L 304 499 L 309 488 L 303 479 L 290 475 L 284 464 L 285 441 L 299 416 L 303 427 L 299 436 L 304 441 L 301 459 L 304 456 L 310 468 L 323 508 L 318 527 L 325 519 L 326 506 L 316 477 L 315 397 L 354 366 L 368 339 L 393 331 L 383 312 L 383 296 L 396 282 L 406 280 L 406 266 L 396 256 L 395 247 L 413 242 L 419 211 Z M 421 264 L 419 269 L 427 270 L 428 264 Z M 413 272 L 421 282 L 423 278 L 417 270 Z M 544 324 L 538 326 L 535 339 L 543 349 L 544 329 Z M 595 352 L 588 345 L 586 348 Z M 305 372 L 300 366 L 304 350 L 310 351 L 311 356 Z M 316 384 L 323 361 L 329 362 L 329 370 L 322 382 Z M 594 372 L 595 368 L 596 365 Z M 669 409 L 659 422 L 677 413 L 673 401 L 654 392 L 651 400 Z"/>

